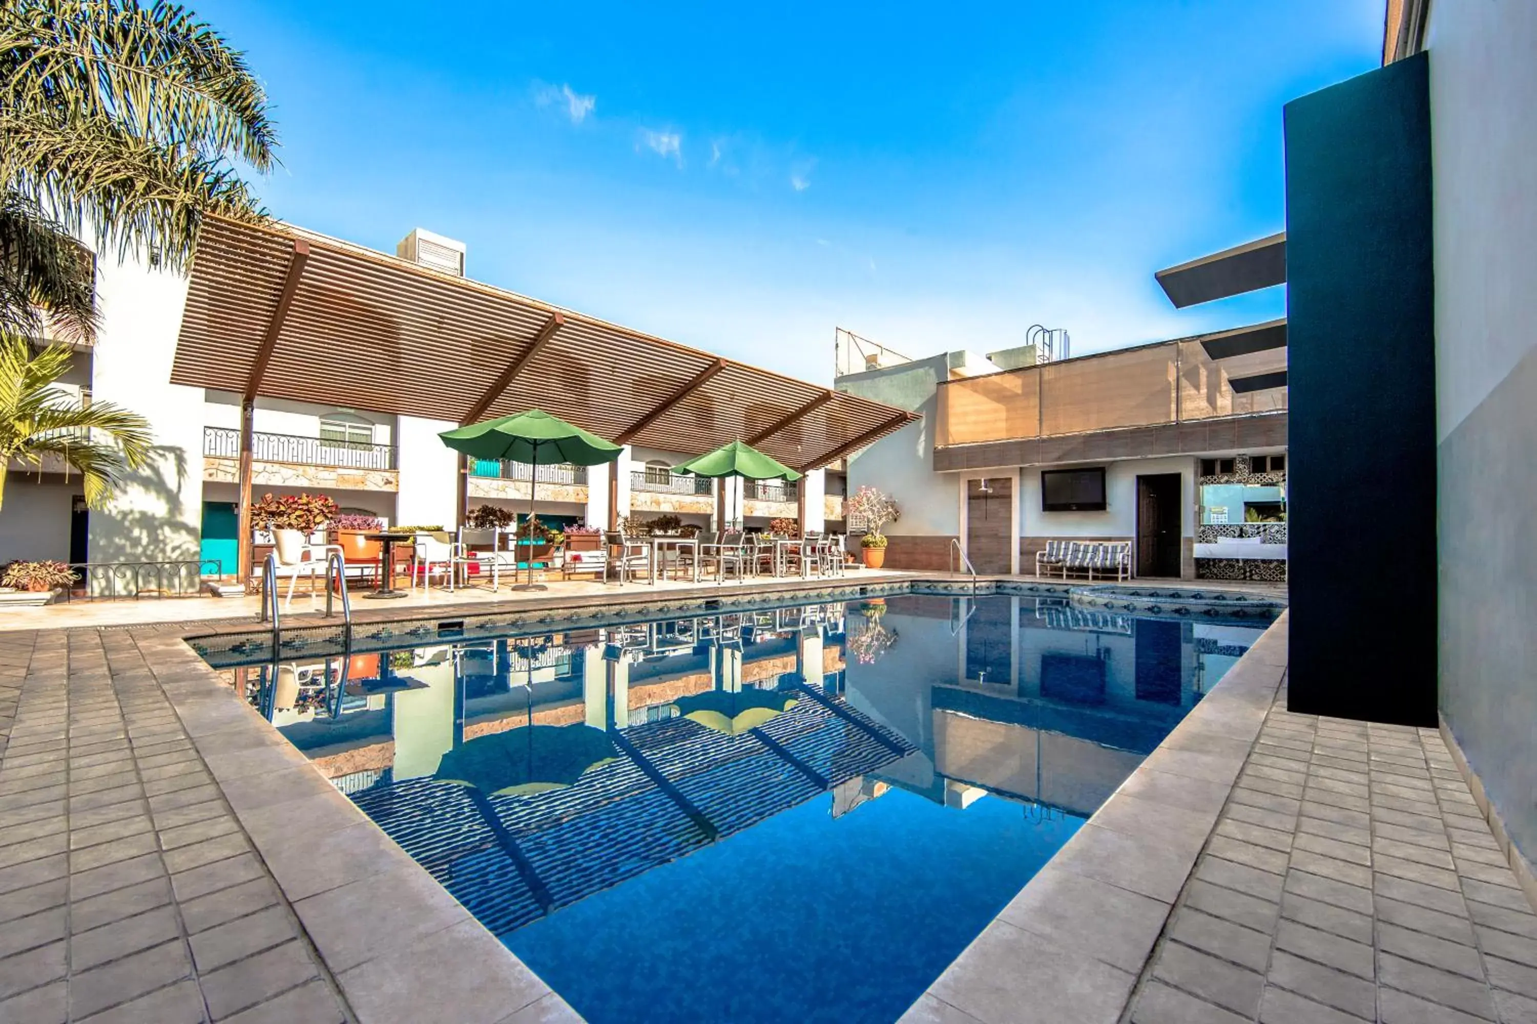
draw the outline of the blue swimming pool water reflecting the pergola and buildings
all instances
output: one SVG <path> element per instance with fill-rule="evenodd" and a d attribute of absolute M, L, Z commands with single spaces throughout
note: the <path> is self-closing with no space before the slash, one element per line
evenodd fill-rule
<path fill-rule="evenodd" d="M 908 594 L 229 671 L 587 1019 L 891 1021 L 1262 628 Z"/>

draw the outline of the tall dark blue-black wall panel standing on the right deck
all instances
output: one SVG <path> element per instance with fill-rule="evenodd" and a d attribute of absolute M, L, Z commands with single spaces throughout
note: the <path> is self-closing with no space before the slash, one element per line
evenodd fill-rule
<path fill-rule="evenodd" d="M 1436 725 L 1425 54 L 1286 104 L 1290 706 Z"/>

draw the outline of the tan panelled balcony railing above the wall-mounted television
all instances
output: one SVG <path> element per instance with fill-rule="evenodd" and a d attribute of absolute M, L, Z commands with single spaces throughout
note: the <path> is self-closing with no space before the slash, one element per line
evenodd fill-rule
<path fill-rule="evenodd" d="M 1214 359 L 1167 341 L 939 385 L 938 447 L 1159 427 L 1286 408 L 1286 350 Z"/>

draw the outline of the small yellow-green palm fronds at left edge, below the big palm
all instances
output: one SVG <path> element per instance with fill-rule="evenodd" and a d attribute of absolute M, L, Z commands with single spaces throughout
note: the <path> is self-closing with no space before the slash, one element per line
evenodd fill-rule
<path fill-rule="evenodd" d="M 0 335 L 0 500 L 12 459 L 41 471 L 54 456 L 78 470 L 86 505 L 97 508 L 149 457 L 149 421 L 111 402 L 85 405 L 55 385 L 69 359 L 68 345 L 32 355 L 20 335 Z"/>

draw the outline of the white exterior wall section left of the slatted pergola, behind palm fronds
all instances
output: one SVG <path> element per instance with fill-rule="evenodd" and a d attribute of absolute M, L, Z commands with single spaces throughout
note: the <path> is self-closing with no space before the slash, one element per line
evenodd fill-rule
<path fill-rule="evenodd" d="M 92 562 L 195 559 L 203 524 L 203 388 L 171 384 L 186 278 L 97 263 L 92 398 L 146 416 L 154 456 L 103 508 L 91 511 Z"/>

